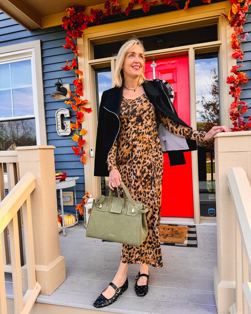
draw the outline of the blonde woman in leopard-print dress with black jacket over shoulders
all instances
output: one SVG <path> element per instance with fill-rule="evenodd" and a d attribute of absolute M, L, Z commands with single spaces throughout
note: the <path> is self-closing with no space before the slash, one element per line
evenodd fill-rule
<path fill-rule="evenodd" d="M 122 180 L 133 199 L 149 208 L 148 236 L 140 247 L 122 246 L 118 272 L 95 307 L 112 304 L 128 288 L 129 264 L 140 264 L 135 283 L 139 296 L 148 291 L 148 265 L 163 266 L 159 242 L 163 152 L 168 152 L 171 165 L 184 164 L 183 152 L 195 150 L 196 140 L 210 141 L 216 133 L 228 132 L 225 126 L 213 127 L 208 133 L 194 131 L 179 119 L 166 85 L 147 81 L 144 68 L 142 42 L 132 38 L 118 53 L 115 87 L 102 95 L 94 175 L 109 175 L 112 190 Z"/>

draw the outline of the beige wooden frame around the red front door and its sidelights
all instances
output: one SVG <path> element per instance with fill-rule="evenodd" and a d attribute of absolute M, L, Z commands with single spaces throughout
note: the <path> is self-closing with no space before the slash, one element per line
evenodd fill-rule
<path fill-rule="evenodd" d="M 94 177 L 94 158 L 90 157 L 90 149 L 95 149 L 96 130 L 97 130 L 97 110 L 95 95 L 95 68 L 110 66 L 112 78 L 114 78 L 116 57 L 104 59 L 93 59 L 93 44 L 107 43 L 111 41 L 126 40 L 131 35 L 146 36 L 166 33 L 170 31 L 207 26 L 218 25 L 218 41 L 168 48 L 156 51 L 147 51 L 146 60 L 160 59 L 172 56 L 189 56 L 190 72 L 190 110 L 191 127 L 196 129 L 196 99 L 195 99 L 195 52 L 205 53 L 219 52 L 219 87 L 221 103 L 221 123 L 230 127 L 228 114 L 231 95 L 228 94 L 228 85 L 226 84 L 229 69 L 236 65 L 236 60 L 231 57 L 229 42 L 232 29 L 222 13 L 228 14 L 231 3 L 229 1 L 220 2 L 187 10 L 179 10 L 170 13 L 158 14 L 128 21 L 122 21 L 112 24 L 98 25 L 88 28 L 83 38 L 78 38 L 78 66 L 83 71 L 83 93 L 89 100 L 89 105 L 93 111 L 91 115 L 86 115 L 82 126 L 87 130 L 85 134 L 86 165 L 84 166 L 85 190 L 94 197 L 101 195 L 100 178 Z M 135 30 L 137 28 L 137 30 Z M 94 152 L 95 153 L 95 152 Z M 193 173 L 193 196 L 194 196 L 194 222 L 200 223 L 200 205 L 199 205 L 199 181 L 197 166 L 197 151 L 192 152 L 192 173 Z"/>

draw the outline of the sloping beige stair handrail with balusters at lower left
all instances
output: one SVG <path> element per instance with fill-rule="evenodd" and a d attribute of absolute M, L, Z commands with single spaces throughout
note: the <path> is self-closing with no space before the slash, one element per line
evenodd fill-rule
<path fill-rule="evenodd" d="M 35 176 L 26 173 L 0 203 L 0 234 L 8 225 L 13 279 L 13 296 L 15 313 L 29 313 L 41 286 L 36 281 L 34 243 L 31 220 L 30 194 L 35 189 Z M 23 297 L 18 218 L 19 208 L 23 209 L 24 245 L 28 275 L 28 290 Z M 0 305 L 1 313 L 7 313 L 6 290 L 4 280 L 3 245 L 0 236 Z"/>

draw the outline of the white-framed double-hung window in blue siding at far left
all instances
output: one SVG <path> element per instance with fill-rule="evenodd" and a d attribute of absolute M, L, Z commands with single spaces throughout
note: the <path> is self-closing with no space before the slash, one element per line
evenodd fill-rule
<path fill-rule="evenodd" d="M 0 62 L 0 150 L 36 145 L 31 61 Z"/>

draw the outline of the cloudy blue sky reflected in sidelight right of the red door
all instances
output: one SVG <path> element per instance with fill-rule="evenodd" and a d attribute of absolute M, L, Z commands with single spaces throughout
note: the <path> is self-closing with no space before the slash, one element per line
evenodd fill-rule
<path fill-rule="evenodd" d="M 207 89 L 210 84 L 211 69 L 216 68 L 218 73 L 218 58 L 195 60 L 195 85 L 196 85 L 196 102 L 201 100 L 202 95 L 205 95 L 206 100 L 210 100 L 212 97 Z M 196 104 L 196 109 L 202 110 L 203 107 L 200 104 Z M 200 114 L 197 112 L 197 122 L 202 121 Z"/>

